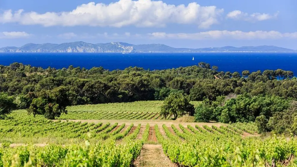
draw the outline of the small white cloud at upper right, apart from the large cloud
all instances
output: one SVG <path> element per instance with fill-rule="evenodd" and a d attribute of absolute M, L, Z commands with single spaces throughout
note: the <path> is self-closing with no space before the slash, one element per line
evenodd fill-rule
<path fill-rule="evenodd" d="M 240 10 L 234 10 L 232 12 L 229 12 L 226 16 L 226 18 L 234 19 L 234 20 L 245 20 L 245 21 L 263 21 L 263 20 L 269 20 L 273 18 L 277 18 L 277 15 L 279 12 L 276 12 L 274 15 L 266 14 L 266 13 L 253 13 L 249 15 L 248 13 L 242 12 Z"/>

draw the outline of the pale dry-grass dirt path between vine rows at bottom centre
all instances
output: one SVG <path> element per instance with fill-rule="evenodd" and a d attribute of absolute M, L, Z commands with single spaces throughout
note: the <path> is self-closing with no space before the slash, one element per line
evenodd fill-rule
<path fill-rule="evenodd" d="M 163 153 L 160 144 L 144 144 L 140 155 L 134 162 L 135 167 L 177 167 Z"/>

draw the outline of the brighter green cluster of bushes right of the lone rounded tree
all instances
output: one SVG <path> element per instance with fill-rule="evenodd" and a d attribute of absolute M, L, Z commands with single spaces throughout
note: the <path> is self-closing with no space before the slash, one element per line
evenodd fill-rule
<path fill-rule="evenodd" d="M 234 95 L 203 100 L 195 108 L 195 121 L 222 123 L 255 122 L 259 133 L 297 135 L 297 102 L 279 96 Z"/>

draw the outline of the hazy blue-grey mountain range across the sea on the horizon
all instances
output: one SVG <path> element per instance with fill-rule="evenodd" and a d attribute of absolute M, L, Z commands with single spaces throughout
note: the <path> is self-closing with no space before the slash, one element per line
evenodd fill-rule
<path fill-rule="evenodd" d="M 207 47 L 200 49 L 174 48 L 164 44 L 128 44 L 110 42 L 89 44 L 86 42 L 70 42 L 62 44 L 25 44 L 22 47 L 3 47 L 0 52 L 36 52 L 36 53 L 87 53 L 87 52 L 297 52 L 297 50 L 276 46 L 244 46 L 244 47 Z"/>

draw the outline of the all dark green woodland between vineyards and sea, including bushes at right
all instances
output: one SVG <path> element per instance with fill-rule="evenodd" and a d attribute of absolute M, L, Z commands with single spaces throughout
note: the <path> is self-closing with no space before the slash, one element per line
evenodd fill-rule
<path fill-rule="evenodd" d="M 42 69 L 12 63 L 0 66 L 0 115 L 4 118 L 12 109 L 27 109 L 54 119 L 67 113 L 67 106 L 164 100 L 171 93 L 181 93 L 190 101 L 203 101 L 195 109 L 196 121 L 255 122 L 264 115 L 263 121 L 268 122 L 275 113 L 292 107 L 297 98 L 297 79 L 292 71 L 231 73 L 218 69 L 204 62 L 166 70 L 129 67 L 113 71 L 73 66 Z M 245 108 L 230 109 L 241 102 Z M 265 107 L 267 112 L 260 112 Z M 269 130 L 266 124 L 264 129 Z"/>

